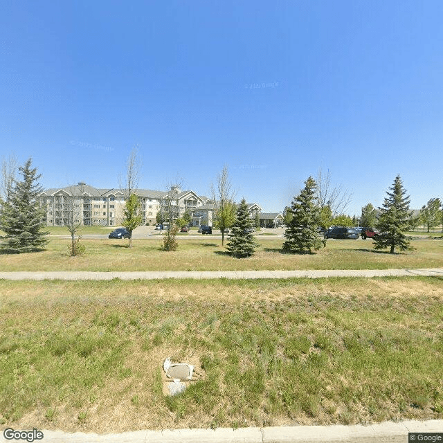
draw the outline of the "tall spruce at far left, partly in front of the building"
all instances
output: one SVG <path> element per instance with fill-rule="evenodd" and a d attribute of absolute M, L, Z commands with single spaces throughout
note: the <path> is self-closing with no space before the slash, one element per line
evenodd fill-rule
<path fill-rule="evenodd" d="M 38 196 L 43 191 L 39 186 L 37 168 L 31 168 L 32 159 L 19 167 L 22 181 L 15 180 L 8 200 L 1 211 L 1 228 L 6 233 L 1 247 L 8 253 L 23 253 L 41 250 L 48 239 L 43 230 L 45 211 Z"/>

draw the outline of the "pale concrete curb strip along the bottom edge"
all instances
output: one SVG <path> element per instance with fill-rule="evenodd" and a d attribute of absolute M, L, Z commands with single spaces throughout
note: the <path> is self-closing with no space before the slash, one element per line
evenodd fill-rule
<path fill-rule="evenodd" d="M 17 431 L 21 431 L 21 429 L 17 429 Z M 235 431 L 231 428 L 177 429 L 174 431 L 134 431 L 106 435 L 41 431 L 43 439 L 38 441 L 44 443 L 406 443 L 410 432 L 443 433 L 443 420 L 383 422 L 369 426 L 239 428 Z M 6 440 L 2 432 L 0 442 L 10 441 Z"/>

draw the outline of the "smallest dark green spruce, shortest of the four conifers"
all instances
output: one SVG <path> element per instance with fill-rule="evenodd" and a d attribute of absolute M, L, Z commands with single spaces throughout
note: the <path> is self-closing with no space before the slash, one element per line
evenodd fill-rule
<path fill-rule="evenodd" d="M 233 224 L 231 234 L 229 235 L 229 242 L 226 249 L 233 255 L 233 257 L 242 258 L 253 255 L 255 248 L 258 246 L 252 233 L 254 221 L 249 217 L 248 205 L 246 200 L 242 199 L 238 209 L 237 218 Z"/>

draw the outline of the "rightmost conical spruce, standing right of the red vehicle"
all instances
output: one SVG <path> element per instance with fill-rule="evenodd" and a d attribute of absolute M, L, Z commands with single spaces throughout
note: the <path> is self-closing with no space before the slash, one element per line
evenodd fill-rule
<path fill-rule="evenodd" d="M 404 231 L 410 227 L 410 200 L 409 196 L 406 196 L 406 190 L 399 175 L 395 177 L 389 189 L 392 192 L 386 191 L 388 197 L 379 208 L 377 228 L 380 230 L 380 235 L 374 238 L 374 248 L 390 248 L 391 254 L 394 253 L 395 248 L 401 251 L 412 250 L 413 247 L 404 235 Z"/>

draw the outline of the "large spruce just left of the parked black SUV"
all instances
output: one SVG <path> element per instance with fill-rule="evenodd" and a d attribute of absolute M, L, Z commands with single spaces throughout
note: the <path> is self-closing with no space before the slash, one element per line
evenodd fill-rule
<path fill-rule="evenodd" d="M 283 251 L 288 253 L 312 253 L 324 246 L 318 238 L 317 228 L 320 226 L 320 208 L 315 203 L 316 182 L 312 177 L 305 181 L 305 188 L 291 203 L 292 219 L 287 226 L 283 243 Z"/>

